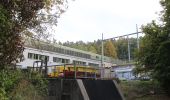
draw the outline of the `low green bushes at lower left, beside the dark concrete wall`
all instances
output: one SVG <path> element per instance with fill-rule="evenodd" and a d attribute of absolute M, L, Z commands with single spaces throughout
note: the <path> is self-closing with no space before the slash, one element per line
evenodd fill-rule
<path fill-rule="evenodd" d="M 30 75 L 33 79 L 29 77 Z M 0 79 L 1 100 L 31 100 L 30 97 L 41 98 L 42 100 L 48 94 L 48 82 L 38 73 L 27 73 L 21 70 L 1 70 Z"/>

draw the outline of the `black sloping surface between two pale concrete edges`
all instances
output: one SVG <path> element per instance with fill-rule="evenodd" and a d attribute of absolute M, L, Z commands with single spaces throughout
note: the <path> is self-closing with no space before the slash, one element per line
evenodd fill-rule
<path fill-rule="evenodd" d="M 112 80 L 83 80 L 90 100 L 122 100 Z"/>

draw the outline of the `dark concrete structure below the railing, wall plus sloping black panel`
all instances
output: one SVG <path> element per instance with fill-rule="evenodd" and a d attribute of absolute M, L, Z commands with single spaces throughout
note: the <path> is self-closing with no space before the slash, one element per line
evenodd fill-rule
<path fill-rule="evenodd" d="M 50 79 L 48 100 L 124 100 L 113 80 Z"/>

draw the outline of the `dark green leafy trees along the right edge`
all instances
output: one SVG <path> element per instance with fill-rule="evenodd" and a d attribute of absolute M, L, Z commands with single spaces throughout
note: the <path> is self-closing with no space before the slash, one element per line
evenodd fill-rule
<path fill-rule="evenodd" d="M 170 95 L 170 1 L 161 0 L 160 4 L 163 7 L 161 24 L 153 21 L 142 28 L 145 36 L 138 53 L 136 72 L 149 72 Z"/>

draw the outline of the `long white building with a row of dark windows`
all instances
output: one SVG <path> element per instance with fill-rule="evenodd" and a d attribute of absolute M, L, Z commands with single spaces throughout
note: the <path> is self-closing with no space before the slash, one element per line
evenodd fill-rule
<path fill-rule="evenodd" d="M 101 67 L 101 55 L 78 50 L 57 44 L 46 42 L 35 42 L 30 40 L 25 43 L 23 52 L 24 60 L 17 65 L 25 69 L 32 67 L 35 61 L 47 59 L 47 65 L 79 64 L 93 67 Z M 103 67 L 111 67 L 113 60 L 103 57 Z"/>

